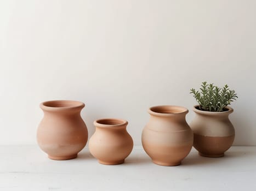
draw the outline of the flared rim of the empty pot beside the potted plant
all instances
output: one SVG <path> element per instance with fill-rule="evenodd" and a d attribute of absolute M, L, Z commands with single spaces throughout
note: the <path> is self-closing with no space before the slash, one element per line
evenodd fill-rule
<path fill-rule="evenodd" d="M 157 105 L 150 107 L 148 112 L 150 115 L 164 117 L 187 114 L 189 110 L 183 106 L 178 105 Z"/>

